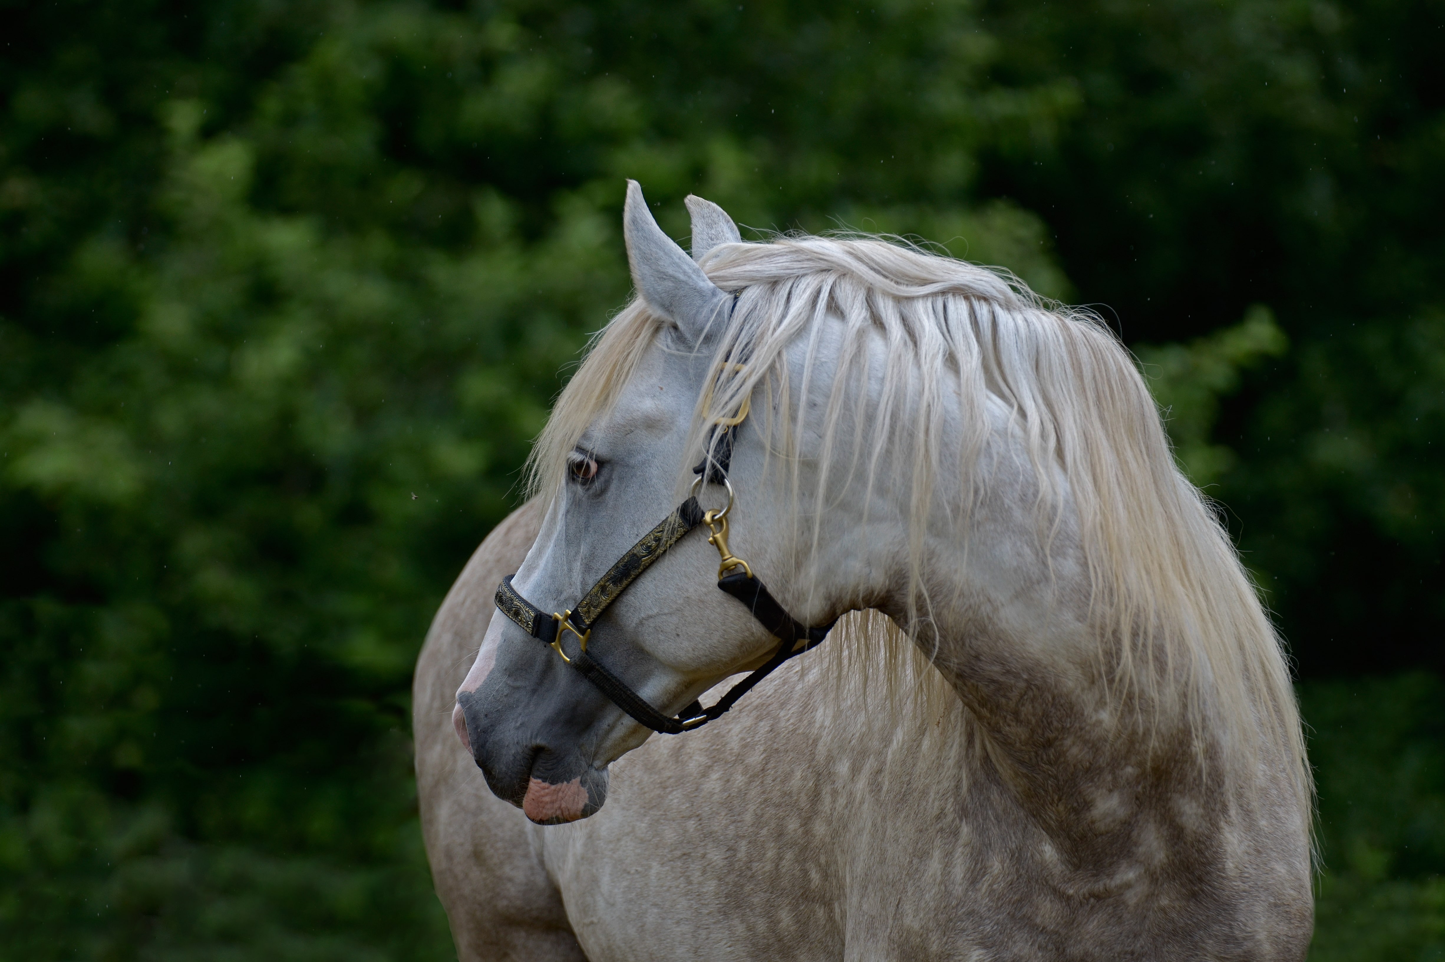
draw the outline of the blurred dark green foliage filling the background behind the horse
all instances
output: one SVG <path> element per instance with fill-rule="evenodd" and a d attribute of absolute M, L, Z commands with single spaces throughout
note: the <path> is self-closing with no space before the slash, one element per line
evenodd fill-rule
<path fill-rule="evenodd" d="M 0 959 L 449 956 L 410 664 L 624 176 L 1100 305 L 1306 673 L 1442 664 L 1438 3 L 0 16 Z M 1433 679 L 1303 688 L 1321 959 L 1445 952 Z"/>

